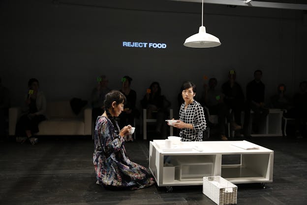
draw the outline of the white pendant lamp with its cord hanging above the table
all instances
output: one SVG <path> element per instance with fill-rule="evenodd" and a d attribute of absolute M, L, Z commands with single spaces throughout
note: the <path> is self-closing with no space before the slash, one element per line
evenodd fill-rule
<path fill-rule="evenodd" d="M 191 48 L 211 48 L 219 46 L 221 43 L 217 37 L 206 33 L 203 25 L 204 19 L 204 0 L 202 0 L 202 26 L 199 27 L 198 34 L 191 35 L 184 41 L 184 46 Z"/>

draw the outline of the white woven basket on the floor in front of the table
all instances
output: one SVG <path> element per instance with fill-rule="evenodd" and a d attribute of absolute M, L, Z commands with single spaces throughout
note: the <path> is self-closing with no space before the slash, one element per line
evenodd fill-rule
<path fill-rule="evenodd" d="M 203 178 L 203 193 L 217 205 L 237 204 L 238 187 L 220 176 Z"/>

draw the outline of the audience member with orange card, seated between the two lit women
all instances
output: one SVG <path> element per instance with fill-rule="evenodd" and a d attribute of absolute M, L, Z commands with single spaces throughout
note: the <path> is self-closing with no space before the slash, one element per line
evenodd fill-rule
<path fill-rule="evenodd" d="M 144 98 L 141 100 L 143 109 L 147 109 L 147 118 L 157 120 L 155 132 L 158 135 L 166 135 L 165 119 L 169 115 L 171 103 L 161 95 L 161 87 L 158 82 L 153 82 L 147 89 Z"/>

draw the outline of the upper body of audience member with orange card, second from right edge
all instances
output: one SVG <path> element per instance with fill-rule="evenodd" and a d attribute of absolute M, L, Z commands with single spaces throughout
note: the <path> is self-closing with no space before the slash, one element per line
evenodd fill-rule
<path fill-rule="evenodd" d="M 286 92 L 285 84 L 279 84 L 277 87 L 277 94 L 272 96 L 270 99 L 272 108 L 286 109 L 286 110 L 291 108 L 290 97 L 285 95 L 285 92 Z"/>

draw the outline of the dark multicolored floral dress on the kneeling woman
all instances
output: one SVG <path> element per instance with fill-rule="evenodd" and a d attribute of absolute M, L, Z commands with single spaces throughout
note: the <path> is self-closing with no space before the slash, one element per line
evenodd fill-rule
<path fill-rule="evenodd" d="M 97 118 L 94 133 L 93 164 L 97 182 L 110 188 L 141 189 L 154 184 L 145 167 L 131 162 L 126 157 L 124 139 L 119 136 L 119 127 L 104 117 Z"/>

